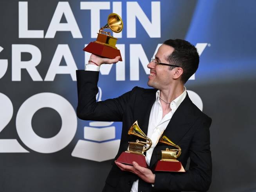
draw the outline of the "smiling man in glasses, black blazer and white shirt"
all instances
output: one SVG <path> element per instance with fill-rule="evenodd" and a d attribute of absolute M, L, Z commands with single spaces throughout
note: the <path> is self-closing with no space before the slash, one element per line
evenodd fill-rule
<path fill-rule="evenodd" d="M 208 190 L 212 171 L 209 136 L 211 118 L 191 102 L 184 87 L 198 68 L 196 48 L 181 39 L 165 41 L 148 64 L 148 86 L 154 89 L 135 87 L 118 98 L 96 102 L 99 66 L 116 63 L 118 59 L 91 55 L 86 70 L 77 71 L 77 115 L 84 120 L 123 122 L 115 160 L 127 150 L 128 142 L 136 139 L 127 135 L 135 120 L 138 120 L 142 131 L 151 138 L 153 144 L 146 152 L 148 168 L 140 167 L 136 162 L 124 165 L 114 161 L 103 191 Z M 182 153 L 178 160 L 184 167 L 190 157 L 189 170 L 185 173 L 154 172 L 155 164 L 161 159 L 161 150 L 168 147 L 158 143 L 161 135 L 166 135 L 181 147 Z"/>

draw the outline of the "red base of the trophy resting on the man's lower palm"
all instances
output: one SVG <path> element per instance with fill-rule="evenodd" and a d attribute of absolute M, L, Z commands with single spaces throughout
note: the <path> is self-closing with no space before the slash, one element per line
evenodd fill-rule
<path fill-rule="evenodd" d="M 121 153 L 119 158 L 117 158 L 116 161 L 119 162 L 119 163 L 124 163 L 124 164 L 128 164 L 128 165 L 132 165 L 132 161 L 135 161 L 141 167 L 148 167 L 147 163 L 146 163 L 145 156 L 140 155 L 140 154 L 135 154 L 135 153 L 123 152 L 123 153 Z"/>

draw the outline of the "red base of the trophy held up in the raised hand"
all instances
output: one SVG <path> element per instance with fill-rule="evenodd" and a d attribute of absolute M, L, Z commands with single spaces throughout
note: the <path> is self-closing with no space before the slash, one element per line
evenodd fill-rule
<path fill-rule="evenodd" d="M 116 56 L 120 56 L 121 58 L 119 61 L 123 61 L 120 50 L 101 43 L 90 42 L 85 48 L 83 48 L 83 50 L 109 59 L 114 59 Z"/>

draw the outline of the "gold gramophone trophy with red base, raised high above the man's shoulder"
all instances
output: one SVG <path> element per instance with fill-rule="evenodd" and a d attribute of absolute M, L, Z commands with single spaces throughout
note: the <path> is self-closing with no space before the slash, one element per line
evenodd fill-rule
<path fill-rule="evenodd" d="M 110 35 L 110 32 L 103 31 L 104 29 L 111 29 L 115 33 L 119 33 L 123 30 L 123 21 L 121 17 L 116 13 L 108 15 L 107 24 L 99 30 L 97 33 L 97 39 L 94 42 L 90 42 L 84 51 L 95 54 L 97 56 L 114 59 L 116 56 L 120 56 L 119 61 L 123 61 L 120 50 L 115 47 L 117 38 Z"/>

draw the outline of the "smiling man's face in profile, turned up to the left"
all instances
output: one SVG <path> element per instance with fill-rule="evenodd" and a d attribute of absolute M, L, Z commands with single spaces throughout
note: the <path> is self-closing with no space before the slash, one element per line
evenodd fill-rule
<path fill-rule="evenodd" d="M 161 45 L 157 50 L 155 55 L 155 60 L 160 63 L 169 63 L 168 56 L 174 51 L 173 47 L 169 45 Z M 156 65 L 154 62 L 148 64 L 150 68 L 150 75 L 148 76 L 148 86 L 153 88 L 163 90 L 168 89 L 171 85 L 172 79 L 172 70 L 169 70 L 169 66 L 166 65 Z"/>

